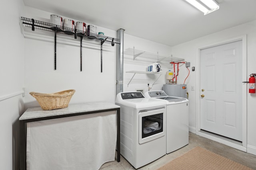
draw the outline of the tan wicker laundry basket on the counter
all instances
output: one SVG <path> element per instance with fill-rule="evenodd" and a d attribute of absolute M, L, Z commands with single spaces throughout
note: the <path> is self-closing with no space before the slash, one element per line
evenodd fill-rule
<path fill-rule="evenodd" d="M 36 98 L 43 110 L 53 110 L 68 107 L 70 99 L 76 90 L 64 90 L 52 94 L 30 92 L 29 94 Z"/>

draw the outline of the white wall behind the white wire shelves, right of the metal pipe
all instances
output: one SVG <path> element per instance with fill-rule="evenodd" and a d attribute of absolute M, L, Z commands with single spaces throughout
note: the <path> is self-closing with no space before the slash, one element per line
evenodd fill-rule
<path fill-rule="evenodd" d="M 146 51 L 149 53 L 158 53 L 159 55 L 165 56 L 171 55 L 171 48 L 167 45 L 124 34 L 124 51 L 133 47 L 136 50 Z M 144 90 L 144 92 L 146 92 L 148 90 L 148 84 L 152 88 L 151 90 L 162 90 L 162 86 L 165 83 L 164 73 L 168 71 L 168 66 L 171 66 L 170 63 L 161 65 L 163 72 L 161 76 L 159 74 L 135 74 L 134 78 L 132 78 L 134 74 L 127 73 L 127 71 L 132 70 L 146 71 L 147 66 L 151 63 L 156 63 L 156 61 L 157 57 L 156 60 L 143 59 L 141 57 L 137 57 L 133 60 L 133 56 L 124 54 L 124 92 L 132 92 L 136 90 Z M 158 78 L 159 76 L 160 78 Z M 132 81 L 128 85 L 131 78 Z M 157 78 L 158 80 L 156 81 Z M 154 82 L 155 84 L 152 86 Z"/>

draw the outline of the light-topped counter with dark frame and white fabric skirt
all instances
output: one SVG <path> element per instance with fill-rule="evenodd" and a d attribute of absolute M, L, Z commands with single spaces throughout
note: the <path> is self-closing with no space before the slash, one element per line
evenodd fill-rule
<path fill-rule="evenodd" d="M 33 107 L 19 120 L 20 170 L 97 170 L 115 160 L 116 149 L 120 162 L 120 106 Z"/>

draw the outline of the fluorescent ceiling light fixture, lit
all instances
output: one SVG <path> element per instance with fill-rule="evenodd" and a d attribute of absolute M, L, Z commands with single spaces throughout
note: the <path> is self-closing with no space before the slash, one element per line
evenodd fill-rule
<path fill-rule="evenodd" d="M 214 12 L 220 8 L 220 5 L 215 0 L 186 0 L 188 3 L 196 7 L 198 10 L 204 12 L 204 15 Z"/>

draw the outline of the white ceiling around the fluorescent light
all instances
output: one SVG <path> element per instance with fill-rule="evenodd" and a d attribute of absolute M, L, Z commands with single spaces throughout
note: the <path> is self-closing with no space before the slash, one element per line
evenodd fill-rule
<path fill-rule="evenodd" d="M 174 46 L 256 20 L 256 0 L 216 0 L 204 16 L 185 0 L 23 0 L 25 6 Z M 49 16 L 50 18 L 50 16 Z"/>

